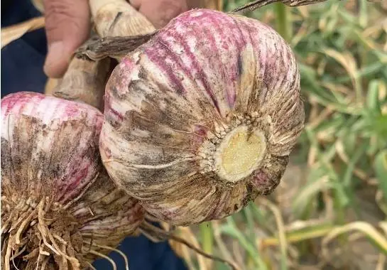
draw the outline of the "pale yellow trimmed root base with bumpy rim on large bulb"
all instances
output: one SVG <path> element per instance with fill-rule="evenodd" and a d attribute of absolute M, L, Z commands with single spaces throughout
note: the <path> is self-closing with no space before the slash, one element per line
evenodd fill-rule
<path fill-rule="evenodd" d="M 271 119 L 250 116 L 238 116 L 229 125 L 216 124 L 198 152 L 201 172 L 212 171 L 229 183 L 249 178 L 267 156 L 270 125 Z"/>

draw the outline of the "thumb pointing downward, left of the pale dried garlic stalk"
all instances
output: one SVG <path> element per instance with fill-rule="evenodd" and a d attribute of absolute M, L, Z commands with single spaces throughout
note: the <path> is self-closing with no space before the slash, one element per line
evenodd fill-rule
<path fill-rule="evenodd" d="M 72 53 L 87 40 L 90 29 L 88 0 L 44 0 L 48 55 L 44 72 L 62 77 Z"/>

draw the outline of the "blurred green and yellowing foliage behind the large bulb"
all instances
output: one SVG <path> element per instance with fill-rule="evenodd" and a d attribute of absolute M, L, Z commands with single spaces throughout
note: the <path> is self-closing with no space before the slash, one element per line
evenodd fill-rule
<path fill-rule="evenodd" d="M 246 1 L 224 1 L 224 11 Z M 246 14 L 292 46 L 307 123 L 275 193 L 191 228 L 207 252 L 241 269 L 387 268 L 387 11 L 357 3 Z"/>

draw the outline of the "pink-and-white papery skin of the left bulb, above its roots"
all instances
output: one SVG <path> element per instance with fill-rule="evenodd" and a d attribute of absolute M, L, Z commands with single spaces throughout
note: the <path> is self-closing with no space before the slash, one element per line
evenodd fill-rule
<path fill-rule="evenodd" d="M 10 189 L 9 194 L 20 190 L 53 194 L 62 204 L 77 197 L 100 170 L 103 121 L 90 106 L 36 93 L 18 92 L 1 99 L 4 188 Z M 35 183 L 29 185 L 28 180 Z"/>

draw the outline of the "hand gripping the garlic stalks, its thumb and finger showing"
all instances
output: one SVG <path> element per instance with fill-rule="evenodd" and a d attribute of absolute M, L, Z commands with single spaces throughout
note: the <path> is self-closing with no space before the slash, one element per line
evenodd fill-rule
<path fill-rule="evenodd" d="M 172 18 L 188 10 L 189 0 L 129 0 L 153 26 L 161 28 Z M 88 0 L 43 0 L 48 55 L 44 72 L 62 77 L 72 53 L 84 43 L 91 28 Z"/>

